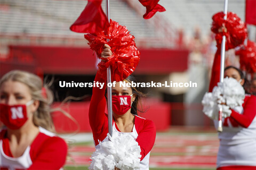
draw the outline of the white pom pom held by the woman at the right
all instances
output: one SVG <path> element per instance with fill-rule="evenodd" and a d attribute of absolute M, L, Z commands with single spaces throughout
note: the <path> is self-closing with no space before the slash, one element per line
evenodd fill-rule
<path fill-rule="evenodd" d="M 233 78 L 225 78 L 219 82 L 212 92 L 206 92 L 203 97 L 203 112 L 213 120 L 218 120 L 219 109 L 222 108 L 222 117 L 229 117 L 231 109 L 242 106 L 244 103 L 245 92 L 239 82 Z M 226 105 L 220 105 L 226 103 Z"/>

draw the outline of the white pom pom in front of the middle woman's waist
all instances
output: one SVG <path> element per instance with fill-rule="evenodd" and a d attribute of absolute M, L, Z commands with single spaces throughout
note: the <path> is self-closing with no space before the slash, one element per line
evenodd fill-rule
<path fill-rule="evenodd" d="M 141 150 L 131 135 L 113 133 L 113 137 L 108 134 L 108 138 L 108 141 L 100 142 L 100 148 L 93 152 L 89 169 L 140 169 Z"/>

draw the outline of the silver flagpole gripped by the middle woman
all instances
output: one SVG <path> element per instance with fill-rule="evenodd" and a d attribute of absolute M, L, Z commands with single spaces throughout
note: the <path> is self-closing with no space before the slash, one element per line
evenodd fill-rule
<path fill-rule="evenodd" d="M 108 22 L 110 22 L 110 3 L 109 0 L 107 0 L 106 4 L 106 14 L 108 18 Z M 109 41 L 109 39 L 107 39 Z M 107 68 L 107 84 L 111 83 L 111 71 L 110 66 Z M 113 133 L 113 113 L 112 113 L 112 88 L 110 86 L 107 86 L 107 92 L 108 92 L 108 133 L 112 137 Z"/>

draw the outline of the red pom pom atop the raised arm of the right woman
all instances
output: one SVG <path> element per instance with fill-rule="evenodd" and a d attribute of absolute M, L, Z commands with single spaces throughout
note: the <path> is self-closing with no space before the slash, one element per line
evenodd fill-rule
<path fill-rule="evenodd" d="M 215 39 L 218 48 L 221 47 L 222 36 L 226 36 L 225 47 L 226 50 L 229 50 L 243 44 L 247 37 L 247 29 L 244 22 L 241 21 L 234 12 L 228 12 L 227 20 L 224 20 L 224 16 L 225 14 L 223 12 L 219 12 L 212 16 L 213 22 L 211 30 L 216 33 Z M 227 30 L 224 30 L 223 27 L 226 27 Z"/>

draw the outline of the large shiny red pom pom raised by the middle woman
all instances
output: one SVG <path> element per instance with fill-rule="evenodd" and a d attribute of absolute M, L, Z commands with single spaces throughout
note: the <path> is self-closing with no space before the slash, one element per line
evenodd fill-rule
<path fill-rule="evenodd" d="M 101 78 L 106 80 L 107 67 L 111 66 L 111 81 L 123 81 L 137 67 L 140 60 L 140 52 L 135 46 L 134 36 L 130 34 L 125 26 L 119 25 L 117 22 L 110 20 L 110 27 L 106 31 L 96 32 L 95 34 L 84 35 L 89 41 L 91 49 L 93 49 L 98 58 L 101 58 L 101 52 L 104 44 L 111 47 L 112 56 L 108 57 L 106 62 L 101 61 L 99 73 Z M 109 42 L 107 42 L 109 39 Z"/>

